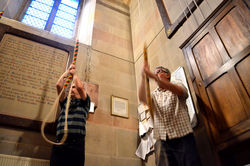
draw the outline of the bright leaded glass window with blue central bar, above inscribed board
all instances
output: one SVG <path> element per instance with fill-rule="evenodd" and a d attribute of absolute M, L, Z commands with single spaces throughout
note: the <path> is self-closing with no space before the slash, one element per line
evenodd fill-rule
<path fill-rule="evenodd" d="M 73 38 L 79 0 L 32 0 L 22 22 Z"/>

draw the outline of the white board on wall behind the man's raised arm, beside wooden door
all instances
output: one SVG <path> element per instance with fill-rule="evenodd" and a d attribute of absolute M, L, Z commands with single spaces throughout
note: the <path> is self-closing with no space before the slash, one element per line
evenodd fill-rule
<path fill-rule="evenodd" d="M 171 73 L 171 82 L 182 83 L 187 88 L 188 98 L 186 100 L 186 104 L 188 107 L 188 114 L 190 117 L 192 127 L 195 127 L 197 125 L 197 116 L 183 67 L 179 67 L 177 70 Z"/>

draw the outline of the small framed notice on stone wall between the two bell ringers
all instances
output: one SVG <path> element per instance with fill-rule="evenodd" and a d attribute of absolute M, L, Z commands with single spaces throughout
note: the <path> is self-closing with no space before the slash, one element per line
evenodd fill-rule
<path fill-rule="evenodd" d="M 128 99 L 111 96 L 111 115 L 128 118 Z"/>

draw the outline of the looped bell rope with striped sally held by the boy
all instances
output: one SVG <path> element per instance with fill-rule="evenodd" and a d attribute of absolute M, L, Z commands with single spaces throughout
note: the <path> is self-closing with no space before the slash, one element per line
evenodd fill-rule
<path fill-rule="evenodd" d="M 72 64 L 75 64 L 76 63 L 76 58 L 77 58 L 77 54 L 78 54 L 78 48 L 79 48 L 79 40 L 76 41 L 76 44 L 75 44 L 75 48 L 74 48 L 74 55 L 73 55 L 73 61 L 72 61 Z M 58 105 L 59 105 L 59 99 L 61 98 L 61 95 L 63 93 L 63 91 L 65 90 L 65 88 L 67 88 L 67 86 L 69 85 L 69 83 L 74 79 L 74 76 L 72 74 L 70 74 L 66 80 L 66 82 L 64 83 L 64 86 L 63 86 L 63 89 L 61 90 L 60 94 L 58 95 L 58 97 L 56 98 L 49 114 L 45 117 L 43 123 L 42 123 L 42 126 L 41 126 L 41 134 L 42 134 L 42 137 L 44 138 L 44 140 L 50 144 L 54 144 L 54 145 L 62 145 L 67 137 L 68 137 L 68 112 L 69 112 L 69 105 L 70 105 L 70 100 L 71 100 L 71 91 L 72 91 L 72 85 L 70 86 L 70 89 L 69 89 L 69 93 L 68 93 L 68 96 L 67 96 L 67 102 L 66 102 L 66 108 L 65 108 L 65 124 L 64 124 L 64 135 L 61 139 L 60 142 L 53 142 L 51 140 L 49 140 L 46 136 L 45 136 L 45 133 L 44 133 L 44 129 L 45 129 L 45 125 L 46 125 L 46 122 L 48 121 L 49 117 L 55 113 L 58 109 Z"/>

